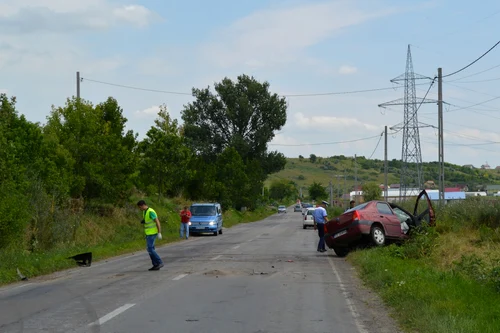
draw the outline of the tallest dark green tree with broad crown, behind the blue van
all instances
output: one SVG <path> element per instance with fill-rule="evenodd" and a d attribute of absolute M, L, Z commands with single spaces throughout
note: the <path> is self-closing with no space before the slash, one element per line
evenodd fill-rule
<path fill-rule="evenodd" d="M 267 150 L 275 131 L 286 122 L 285 99 L 272 94 L 269 83 L 247 75 L 236 82 L 225 78 L 215 84 L 215 92 L 209 87 L 193 89 L 193 96 L 196 100 L 182 111 L 187 144 L 213 163 L 227 148 L 233 148 L 247 171 L 248 200 L 255 201 L 267 175 L 286 164 L 283 154 Z"/>

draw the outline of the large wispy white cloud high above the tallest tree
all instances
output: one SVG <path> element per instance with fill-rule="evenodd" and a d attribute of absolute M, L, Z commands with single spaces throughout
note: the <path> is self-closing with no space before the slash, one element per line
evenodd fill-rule
<path fill-rule="evenodd" d="M 347 1 L 257 11 L 216 34 L 204 54 L 222 67 L 287 64 L 303 57 L 307 47 L 342 29 L 392 13 L 391 8 L 360 10 Z"/>

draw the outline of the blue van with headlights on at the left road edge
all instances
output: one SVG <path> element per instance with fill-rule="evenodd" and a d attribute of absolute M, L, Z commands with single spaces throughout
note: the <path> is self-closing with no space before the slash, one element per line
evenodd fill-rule
<path fill-rule="evenodd" d="M 215 236 L 222 234 L 222 208 L 219 203 L 194 203 L 191 211 L 189 233 L 211 232 Z"/>

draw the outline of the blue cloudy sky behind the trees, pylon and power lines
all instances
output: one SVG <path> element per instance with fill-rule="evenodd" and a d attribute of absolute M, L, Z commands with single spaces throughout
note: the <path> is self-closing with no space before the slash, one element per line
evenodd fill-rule
<path fill-rule="evenodd" d="M 85 79 L 189 93 L 245 73 L 282 95 L 392 87 L 349 95 L 287 97 L 288 120 L 270 145 L 294 157 L 354 154 L 383 158 L 377 136 L 403 120 L 402 107 L 377 105 L 403 97 L 390 80 L 405 70 L 412 45 L 415 72 L 451 73 L 489 49 L 500 31 L 500 3 L 452 0 L 173 1 L 1 0 L 0 91 L 44 122 L 52 105 L 75 94 L 94 103 L 115 97 L 140 136 L 165 103 L 180 119 L 189 95 L 148 92 Z M 500 47 L 445 79 L 445 159 L 500 165 Z M 482 72 L 483 73 L 479 73 Z M 479 73 L 479 74 L 478 74 Z M 472 75 L 472 76 L 470 76 Z M 470 77 L 467 77 L 470 76 Z M 457 80 L 458 79 L 458 80 Z M 456 81 L 452 81 L 456 80 Z M 450 82 L 448 82 L 450 81 Z M 423 96 L 427 86 L 418 86 Z M 437 85 L 429 93 L 437 98 Z M 481 103 L 480 105 L 475 105 Z M 474 106 L 475 105 L 475 106 Z M 437 125 L 437 106 L 419 120 Z M 421 129 L 424 161 L 437 160 L 437 130 Z M 389 158 L 401 158 L 401 133 Z M 290 146 L 301 145 L 301 146 Z"/>

